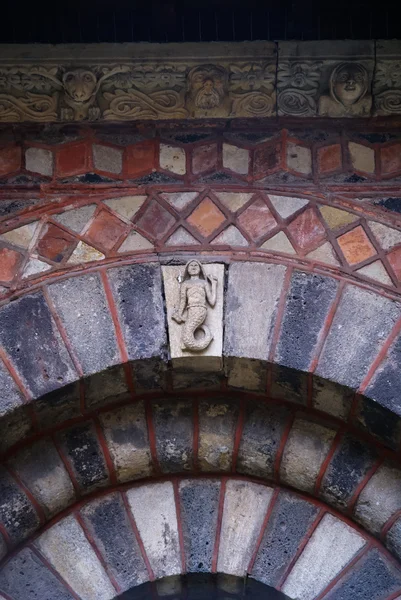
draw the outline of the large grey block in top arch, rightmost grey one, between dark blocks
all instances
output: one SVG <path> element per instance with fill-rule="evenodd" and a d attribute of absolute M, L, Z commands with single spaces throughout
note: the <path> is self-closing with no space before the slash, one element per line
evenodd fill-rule
<path fill-rule="evenodd" d="M 358 387 L 399 316 L 396 302 L 347 285 L 316 374 Z"/>

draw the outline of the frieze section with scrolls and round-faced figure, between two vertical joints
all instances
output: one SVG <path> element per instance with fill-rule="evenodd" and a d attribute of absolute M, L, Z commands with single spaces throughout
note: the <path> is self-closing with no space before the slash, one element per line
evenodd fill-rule
<path fill-rule="evenodd" d="M 369 117 L 374 41 L 280 42 L 279 116 Z"/>

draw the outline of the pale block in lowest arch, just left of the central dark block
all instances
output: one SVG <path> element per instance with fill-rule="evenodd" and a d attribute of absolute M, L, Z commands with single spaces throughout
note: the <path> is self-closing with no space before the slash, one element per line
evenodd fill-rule
<path fill-rule="evenodd" d="M 156 578 L 181 573 L 172 484 L 166 481 L 133 488 L 127 498 Z"/>

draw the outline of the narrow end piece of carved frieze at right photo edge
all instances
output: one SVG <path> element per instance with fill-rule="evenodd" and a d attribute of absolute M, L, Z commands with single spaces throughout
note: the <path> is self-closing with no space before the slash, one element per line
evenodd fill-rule
<path fill-rule="evenodd" d="M 374 116 L 401 114 L 401 42 L 379 40 L 376 44 L 373 91 Z"/>

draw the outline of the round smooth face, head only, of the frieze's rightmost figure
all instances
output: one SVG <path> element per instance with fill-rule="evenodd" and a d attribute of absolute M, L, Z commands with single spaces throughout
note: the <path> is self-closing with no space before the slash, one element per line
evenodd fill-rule
<path fill-rule="evenodd" d="M 362 65 L 341 63 L 335 67 L 330 78 L 332 97 L 344 106 L 351 106 L 368 91 L 369 76 Z"/>

